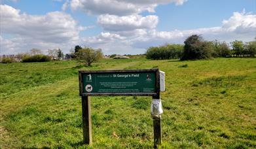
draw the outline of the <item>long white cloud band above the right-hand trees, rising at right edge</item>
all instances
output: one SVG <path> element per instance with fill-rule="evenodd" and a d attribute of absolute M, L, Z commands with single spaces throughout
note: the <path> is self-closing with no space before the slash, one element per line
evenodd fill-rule
<path fill-rule="evenodd" d="M 189 30 L 174 31 L 156 31 L 152 29 L 147 35 L 131 39 L 134 46 L 148 47 L 156 46 L 166 42 L 182 43 L 189 35 L 202 35 L 204 39 L 213 41 L 233 41 L 235 39 L 242 41 L 251 41 L 256 35 L 256 14 L 246 14 L 243 12 L 234 12 L 228 20 L 223 20 L 220 27 L 208 27 Z"/>

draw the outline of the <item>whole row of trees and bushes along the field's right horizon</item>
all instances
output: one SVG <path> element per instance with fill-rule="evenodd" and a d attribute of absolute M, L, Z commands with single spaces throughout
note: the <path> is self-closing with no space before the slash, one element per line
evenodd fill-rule
<path fill-rule="evenodd" d="M 151 46 L 145 53 L 148 59 L 208 59 L 208 58 L 254 58 L 256 54 L 255 41 L 205 41 L 200 35 L 191 35 L 184 44 L 166 44 Z"/>

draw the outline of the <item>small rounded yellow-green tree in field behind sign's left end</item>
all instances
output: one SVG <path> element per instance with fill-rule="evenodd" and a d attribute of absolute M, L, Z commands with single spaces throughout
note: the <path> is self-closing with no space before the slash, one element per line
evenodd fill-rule
<path fill-rule="evenodd" d="M 86 66 L 90 66 L 92 63 L 102 58 L 103 53 L 101 49 L 94 50 L 93 48 L 82 48 L 76 54 L 79 61 L 83 61 Z"/>

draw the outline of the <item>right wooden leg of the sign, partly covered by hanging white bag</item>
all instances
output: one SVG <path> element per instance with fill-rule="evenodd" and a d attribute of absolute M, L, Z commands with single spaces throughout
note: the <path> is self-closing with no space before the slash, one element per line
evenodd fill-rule
<path fill-rule="evenodd" d="M 153 99 L 160 99 L 160 93 L 153 96 Z M 158 145 L 162 143 L 162 133 L 161 133 L 161 117 L 153 118 L 153 129 L 154 129 L 154 148 L 158 148 Z"/>

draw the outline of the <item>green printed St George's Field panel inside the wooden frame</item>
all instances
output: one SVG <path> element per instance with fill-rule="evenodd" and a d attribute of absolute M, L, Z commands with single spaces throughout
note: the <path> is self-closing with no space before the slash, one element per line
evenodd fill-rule
<path fill-rule="evenodd" d="M 155 93 L 156 72 L 82 73 L 83 93 Z"/>

